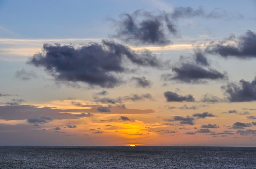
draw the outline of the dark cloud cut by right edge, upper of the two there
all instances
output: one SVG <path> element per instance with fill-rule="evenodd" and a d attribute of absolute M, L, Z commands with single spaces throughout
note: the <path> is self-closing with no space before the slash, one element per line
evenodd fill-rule
<path fill-rule="evenodd" d="M 206 53 L 218 54 L 222 57 L 255 58 L 256 57 L 256 34 L 248 30 L 237 39 L 234 35 L 229 38 L 212 43 L 205 49 Z"/>

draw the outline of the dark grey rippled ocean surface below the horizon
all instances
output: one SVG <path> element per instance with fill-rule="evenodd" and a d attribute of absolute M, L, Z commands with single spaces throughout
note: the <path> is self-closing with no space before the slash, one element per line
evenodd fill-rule
<path fill-rule="evenodd" d="M 256 168 L 256 147 L 0 146 L 0 168 Z"/>

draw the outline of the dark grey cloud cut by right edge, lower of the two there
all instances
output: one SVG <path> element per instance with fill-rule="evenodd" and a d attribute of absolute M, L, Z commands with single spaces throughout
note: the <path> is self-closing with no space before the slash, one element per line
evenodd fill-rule
<path fill-rule="evenodd" d="M 224 94 L 230 102 L 251 102 L 256 100 L 256 77 L 252 82 L 239 81 L 240 84 L 230 82 L 226 86 L 221 86 Z"/>

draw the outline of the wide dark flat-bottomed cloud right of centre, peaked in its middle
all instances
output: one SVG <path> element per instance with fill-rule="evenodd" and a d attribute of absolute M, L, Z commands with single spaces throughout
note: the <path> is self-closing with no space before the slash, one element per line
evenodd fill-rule
<path fill-rule="evenodd" d="M 215 69 L 204 68 L 191 63 L 182 63 L 180 66 L 173 67 L 172 71 L 174 74 L 162 74 L 162 79 L 181 83 L 205 83 L 204 80 L 227 79 L 225 72 L 220 73 Z"/>

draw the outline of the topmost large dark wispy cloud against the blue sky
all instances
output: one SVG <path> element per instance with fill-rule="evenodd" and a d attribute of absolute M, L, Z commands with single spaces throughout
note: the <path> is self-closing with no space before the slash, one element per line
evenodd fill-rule
<path fill-rule="evenodd" d="M 137 10 L 131 15 L 124 13 L 116 22 L 114 38 L 133 44 L 167 45 L 172 43 L 169 34 L 177 34 L 176 25 L 170 21 L 170 16 L 165 12 L 158 14 Z"/>

